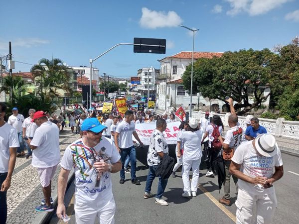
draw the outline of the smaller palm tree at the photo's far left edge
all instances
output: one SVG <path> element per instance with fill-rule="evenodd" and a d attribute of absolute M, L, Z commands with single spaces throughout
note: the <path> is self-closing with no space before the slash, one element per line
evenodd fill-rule
<path fill-rule="evenodd" d="M 9 94 L 11 89 L 11 104 L 18 104 L 21 101 L 22 96 L 27 92 L 27 83 L 24 82 L 21 76 L 6 76 L 3 79 L 3 85 L 0 88 L 0 92 L 5 91 L 5 94 Z"/>

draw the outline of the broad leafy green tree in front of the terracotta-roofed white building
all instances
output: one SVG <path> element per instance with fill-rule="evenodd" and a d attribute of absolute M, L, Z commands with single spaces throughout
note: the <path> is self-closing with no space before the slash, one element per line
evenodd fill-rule
<path fill-rule="evenodd" d="M 229 51 L 220 58 L 200 58 L 194 63 L 192 92 L 200 91 L 203 97 L 224 102 L 225 96 L 230 96 L 237 102 L 234 107 L 241 115 L 261 107 L 270 96 L 271 92 L 264 96 L 265 86 L 272 88 L 279 81 L 279 64 L 279 55 L 267 48 Z M 185 89 L 190 91 L 191 65 L 182 78 Z M 249 103 L 251 93 L 252 104 Z"/>

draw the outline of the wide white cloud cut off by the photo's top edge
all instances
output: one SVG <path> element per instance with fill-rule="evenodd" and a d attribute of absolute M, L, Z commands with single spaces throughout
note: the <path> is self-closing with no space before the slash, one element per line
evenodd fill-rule
<path fill-rule="evenodd" d="M 260 15 L 271 11 L 274 8 L 280 7 L 290 0 L 225 0 L 229 2 L 231 9 L 226 13 L 228 15 L 236 15 L 242 11 L 250 15 Z"/>

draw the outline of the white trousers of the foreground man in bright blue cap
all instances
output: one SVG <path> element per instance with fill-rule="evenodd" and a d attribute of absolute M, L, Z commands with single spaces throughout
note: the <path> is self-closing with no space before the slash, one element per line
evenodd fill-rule
<path fill-rule="evenodd" d="M 75 203 L 76 224 L 114 224 L 115 202 L 112 197 L 106 203 Z"/>

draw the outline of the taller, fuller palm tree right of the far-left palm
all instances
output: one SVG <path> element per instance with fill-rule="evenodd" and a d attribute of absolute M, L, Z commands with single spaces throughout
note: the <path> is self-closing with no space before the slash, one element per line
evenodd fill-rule
<path fill-rule="evenodd" d="M 59 97 L 58 90 L 70 92 L 68 87 L 70 73 L 67 69 L 63 61 L 58 58 L 52 60 L 42 58 L 37 65 L 32 66 L 31 73 L 38 86 L 37 91 L 42 102 L 53 103 L 54 98 Z"/>

